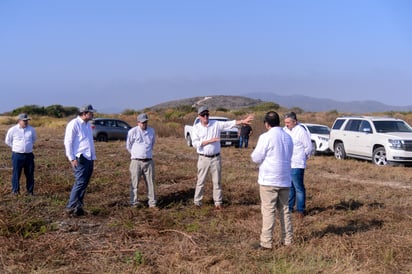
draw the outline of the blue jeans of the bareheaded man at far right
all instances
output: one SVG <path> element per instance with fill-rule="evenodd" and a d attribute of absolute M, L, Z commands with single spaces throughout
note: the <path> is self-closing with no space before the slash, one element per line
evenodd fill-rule
<path fill-rule="evenodd" d="M 292 186 L 289 191 L 289 211 L 293 212 L 296 202 L 296 211 L 304 213 L 306 209 L 306 190 L 303 183 L 304 168 L 292 168 Z"/>

